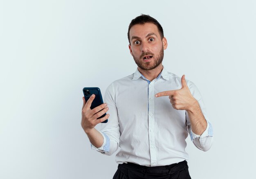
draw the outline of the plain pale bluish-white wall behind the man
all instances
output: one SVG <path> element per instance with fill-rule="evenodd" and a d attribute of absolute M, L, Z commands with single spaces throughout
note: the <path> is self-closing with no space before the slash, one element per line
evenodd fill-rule
<path fill-rule="evenodd" d="M 141 13 L 161 23 L 164 66 L 197 85 L 214 128 L 208 152 L 187 140 L 191 177 L 252 178 L 255 9 L 254 0 L 1 0 L 0 178 L 112 178 L 115 154 L 91 150 L 81 128 L 82 88 L 104 94 L 135 72 L 127 30 Z"/>

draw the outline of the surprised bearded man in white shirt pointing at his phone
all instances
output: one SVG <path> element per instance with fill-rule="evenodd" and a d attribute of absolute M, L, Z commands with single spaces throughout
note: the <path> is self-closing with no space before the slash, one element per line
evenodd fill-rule
<path fill-rule="evenodd" d="M 163 67 L 167 40 L 157 20 L 148 15 L 133 19 L 128 40 L 138 68 L 107 88 L 106 103 L 91 110 L 95 96 L 87 102 L 83 97 L 83 130 L 94 150 L 111 155 L 120 147 L 113 179 L 190 179 L 186 137 L 190 134 L 203 151 L 212 144 L 202 96 L 184 75 Z M 101 131 L 94 128 L 106 119 Z"/>

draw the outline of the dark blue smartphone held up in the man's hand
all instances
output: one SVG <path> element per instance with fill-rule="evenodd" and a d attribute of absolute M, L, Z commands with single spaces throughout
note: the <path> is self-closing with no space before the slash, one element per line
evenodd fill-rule
<path fill-rule="evenodd" d="M 92 94 L 95 94 L 95 98 L 92 101 L 92 105 L 91 105 L 91 110 L 94 107 L 97 107 L 101 104 L 103 104 L 103 99 L 102 99 L 102 95 L 101 95 L 101 90 L 98 87 L 84 87 L 83 88 L 83 95 L 85 97 L 85 101 L 88 101 L 88 99 L 90 98 L 90 96 L 92 96 Z M 100 116 L 99 118 L 102 118 L 104 116 L 106 116 L 107 114 L 103 114 L 102 116 Z M 99 119 L 97 118 L 97 119 Z M 106 119 L 105 121 L 101 122 L 101 123 L 107 123 L 108 119 Z"/>

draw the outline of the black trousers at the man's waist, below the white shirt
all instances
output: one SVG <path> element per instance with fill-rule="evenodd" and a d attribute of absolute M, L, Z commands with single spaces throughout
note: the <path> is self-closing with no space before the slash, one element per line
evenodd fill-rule
<path fill-rule="evenodd" d="M 169 166 L 147 167 L 135 163 L 119 164 L 113 179 L 191 179 L 184 160 Z"/>

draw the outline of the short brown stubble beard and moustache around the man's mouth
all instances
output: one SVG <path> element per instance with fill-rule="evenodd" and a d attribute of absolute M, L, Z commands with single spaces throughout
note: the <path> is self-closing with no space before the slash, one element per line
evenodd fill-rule
<path fill-rule="evenodd" d="M 145 63 L 145 62 L 141 61 L 141 58 L 145 55 L 152 55 L 153 58 L 155 58 L 153 65 L 150 65 L 151 62 Z M 162 61 L 164 59 L 164 48 L 161 49 L 161 51 L 159 52 L 159 54 L 157 56 L 154 56 L 153 54 L 150 54 L 150 53 L 143 53 L 143 54 L 141 54 L 139 59 L 135 58 L 134 56 L 133 56 L 133 59 L 134 59 L 135 63 L 138 65 L 138 67 L 140 67 L 141 69 L 144 69 L 144 70 L 155 69 L 162 63 Z"/>

